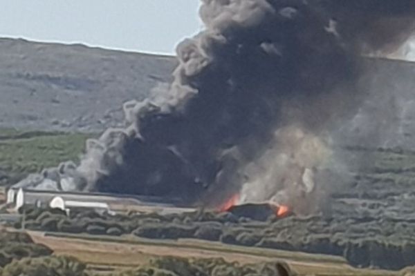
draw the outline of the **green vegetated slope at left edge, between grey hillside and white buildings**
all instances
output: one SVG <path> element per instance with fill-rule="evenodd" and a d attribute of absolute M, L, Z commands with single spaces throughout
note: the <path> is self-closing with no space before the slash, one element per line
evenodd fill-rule
<path fill-rule="evenodd" d="M 93 136 L 0 129 L 0 185 L 13 184 L 62 161 L 77 161 L 86 139 Z"/>

